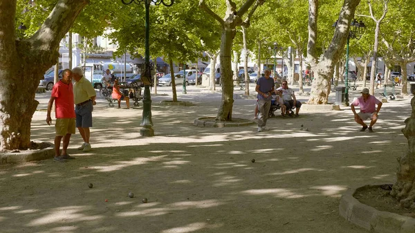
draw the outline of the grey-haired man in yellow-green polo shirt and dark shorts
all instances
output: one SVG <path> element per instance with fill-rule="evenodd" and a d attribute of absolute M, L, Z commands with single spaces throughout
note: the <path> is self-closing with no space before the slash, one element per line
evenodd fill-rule
<path fill-rule="evenodd" d="M 87 152 L 91 151 L 91 144 L 89 143 L 91 131 L 89 128 L 92 127 L 92 111 L 93 105 L 96 104 L 96 93 L 91 82 L 83 77 L 81 68 L 73 68 L 72 72 L 73 79 L 75 80 L 73 94 L 75 99 L 76 127 L 84 140 L 84 143 L 78 149 Z"/>

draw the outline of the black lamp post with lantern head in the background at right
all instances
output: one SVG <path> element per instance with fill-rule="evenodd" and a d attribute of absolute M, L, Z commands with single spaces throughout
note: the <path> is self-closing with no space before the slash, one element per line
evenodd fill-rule
<path fill-rule="evenodd" d="M 338 21 L 335 21 L 333 27 L 336 27 Z M 346 89 L 344 91 L 344 105 L 349 106 L 349 39 L 360 39 L 362 38 L 363 33 L 365 33 L 366 25 L 356 19 L 351 21 L 351 28 L 349 30 L 349 35 L 347 37 L 347 47 L 346 47 L 346 74 L 344 75 L 344 86 Z"/>

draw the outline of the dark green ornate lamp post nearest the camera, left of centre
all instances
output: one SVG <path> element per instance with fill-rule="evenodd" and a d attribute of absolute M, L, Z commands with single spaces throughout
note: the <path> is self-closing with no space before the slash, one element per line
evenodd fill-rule
<path fill-rule="evenodd" d="M 150 85 L 151 85 L 151 65 L 150 65 L 150 46 L 149 46 L 149 35 L 150 35 L 150 5 L 154 4 L 159 6 L 163 4 L 164 6 L 172 6 L 174 0 L 168 0 L 169 3 L 165 3 L 164 0 L 121 0 L 125 5 L 131 3 L 144 3 L 145 6 L 145 64 L 144 72 L 141 73 L 141 80 L 144 83 L 144 96 L 142 100 L 142 121 L 140 126 L 143 128 L 140 129 L 141 136 L 154 136 L 153 122 L 151 121 L 151 95 L 150 95 Z M 174 75 L 173 75 L 174 76 Z M 174 77 L 172 77 L 174 78 Z"/>

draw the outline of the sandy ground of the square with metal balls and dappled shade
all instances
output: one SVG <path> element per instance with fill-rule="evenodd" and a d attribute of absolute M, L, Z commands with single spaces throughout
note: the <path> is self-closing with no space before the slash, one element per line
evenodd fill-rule
<path fill-rule="evenodd" d="M 366 232 L 339 216 L 339 198 L 394 181 L 409 98 L 384 104 L 375 133 L 358 132 L 349 109 L 273 118 L 257 133 L 192 126 L 216 114 L 220 93 L 189 89 L 179 99 L 196 106 L 154 97 L 154 138 L 138 137 L 142 109 L 100 100 L 91 153 L 75 149 L 77 134 L 76 160 L 1 166 L 0 232 Z M 254 103 L 235 100 L 234 117 L 252 118 Z M 32 138 L 52 142 L 44 116 L 34 115 Z"/>

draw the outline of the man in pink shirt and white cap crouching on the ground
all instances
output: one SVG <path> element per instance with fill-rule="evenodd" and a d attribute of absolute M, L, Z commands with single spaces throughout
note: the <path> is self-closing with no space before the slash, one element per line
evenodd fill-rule
<path fill-rule="evenodd" d="M 378 121 L 378 113 L 380 111 L 380 107 L 382 107 L 382 102 L 376 99 L 373 95 L 370 95 L 368 88 L 363 88 L 360 93 L 362 93 L 362 96 L 358 97 L 353 101 L 353 103 L 351 103 L 351 111 L 355 116 L 355 121 L 362 125 L 362 129 L 360 129 L 360 131 L 365 131 L 367 129 L 367 124 L 363 121 L 370 118 L 369 132 L 373 133 L 374 131 L 372 126 L 376 123 L 376 121 Z M 378 105 L 377 109 L 376 105 Z M 360 106 L 360 113 L 356 113 L 354 108 L 355 106 Z"/>

